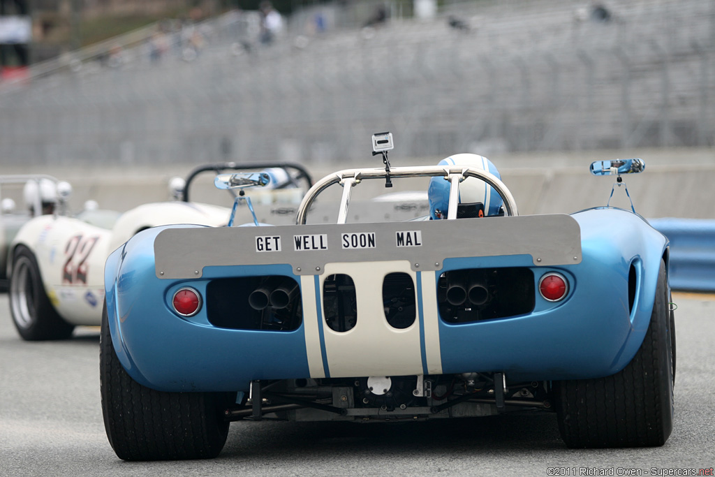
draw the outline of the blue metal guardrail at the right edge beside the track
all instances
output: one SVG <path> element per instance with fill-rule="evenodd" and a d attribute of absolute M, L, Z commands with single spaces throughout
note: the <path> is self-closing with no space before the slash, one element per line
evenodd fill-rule
<path fill-rule="evenodd" d="M 649 220 L 671 242 L 670 285 L 674 290 L 715 291 L 715 220 Z"/>

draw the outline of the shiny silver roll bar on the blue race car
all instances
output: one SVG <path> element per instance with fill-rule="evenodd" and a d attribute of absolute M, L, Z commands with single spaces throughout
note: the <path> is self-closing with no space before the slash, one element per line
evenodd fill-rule
<path fill-rule="evenodd" d="M 388 174 L 388 172 L 385 172 L 385 169 L 381 168 L 345 169 L 333 172 L 332 174 L 323 177 L 321 180 L 315 182 L 315 185 L 310 187 L 310 190 L 305 193 L 305 197 L 303 197 L 302 202 L 300 202 L 300 206 L 298 206 L 295 223 L 297 225 L 305 224 L 305 221 L 307 220 L 307 212 L 310 210 L 310 206 L 315 200 L 315 197 L 320 195 L 320 192 L 327 189 L 327 187 L 330 187 L 333 184 L 340 184 L 342 185 L 343 190 L 342 197 L 340 199 L 340 210 L 337 215 L 337 223 L 344 224 L 347 220 L 347 207 L 350 205 L 350 190 L 352 190 L 352 187 L 358 185 L 364 179 L 385 179 L 386 174 Z M 483 169 L 475 169 L 473 167 L 461 165 L 392 167 L 390 168 L 389 174 L 392 179 L 398 177 L 443 176 L 445 180 L 450 181 L 448 219 L 455 219 L 457 217 L 459 183 L 467 177 L 476 177 L 494 187 L 504 201 L 506 215 L 518 215 L 516 201 L 506 185 L 494 174 L 490 174 Z"/>

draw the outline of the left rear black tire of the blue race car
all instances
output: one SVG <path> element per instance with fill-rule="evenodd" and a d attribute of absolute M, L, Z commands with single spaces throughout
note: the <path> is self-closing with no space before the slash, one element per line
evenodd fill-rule
<path fill-rule="evenodd" d="M 124 370 L 109 333 L 107 304 L 99 338 L 99 387 L 104 428 L 125 461 L 214 458 L 226 443 L 225 393 L 166 393 L 137 383 Z"/>

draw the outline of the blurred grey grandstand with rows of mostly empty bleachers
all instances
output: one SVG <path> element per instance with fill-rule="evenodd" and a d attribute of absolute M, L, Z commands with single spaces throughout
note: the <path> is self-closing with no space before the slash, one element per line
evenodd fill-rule
<path fill-rule="evenodd" d="M 453 2 L 322 34 L 306 11 L 270 46 L 231 12 L 192 26 L 193 52 L 165 29 L 160 59 L 144 29 L 0 85 L 0 161 L 340 162 L 384 130 L 395 157 L 714 146 L 715 2 L 607 5 L 594 21 L 587 1 Z"/>

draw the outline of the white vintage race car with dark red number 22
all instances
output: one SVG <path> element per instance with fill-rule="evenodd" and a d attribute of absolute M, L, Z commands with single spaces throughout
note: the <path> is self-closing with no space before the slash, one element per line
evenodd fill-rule
<path fill-rule="evenodd" d="M 179 191 L 179 200 L 173 202 L 144 204 L 124 214 L 85 210 L 69 216 L 61 210 L 65 207 L 60 195 L 53 212 L 26 220 L 3 250 L 11 315 L 21 337 L 63 339 L 77 325 L 99 325 L 109 254 L 137 232 L 157 225 L 227 225 L 231 209 L 189 202 L 189 186 L 201 172 L 245 169 L 270 172 L 272 187 L 267 195 L 287 189 L 305 192 L 312 185 L 310 175 L 295 164 L 211 164 L 194 169 Z M 260 202 L 269 202 L 267 195 Z M 290 196 L 300 200 L 302 193 Z"/>

